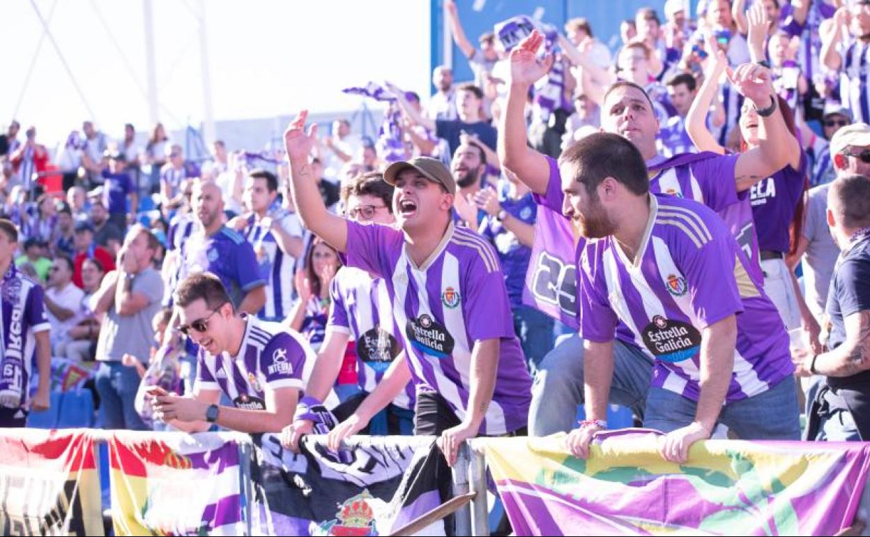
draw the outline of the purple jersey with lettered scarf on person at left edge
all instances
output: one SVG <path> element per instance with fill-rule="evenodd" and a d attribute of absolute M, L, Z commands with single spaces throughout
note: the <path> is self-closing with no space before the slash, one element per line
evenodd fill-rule
<path fill-rule="evenodd" d="M 0 354 L 0 395 L 18 397 L 23 406 L 30 399 L 30 377 L 37 350 L 37 332 L 50 330 L 45 314 L 43 288 L 19 271 L 15 264 L 2 280 L 0 328 L 3 353 Z"/>

